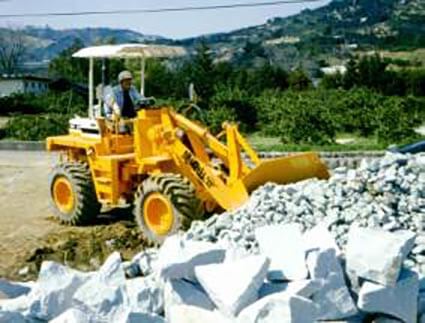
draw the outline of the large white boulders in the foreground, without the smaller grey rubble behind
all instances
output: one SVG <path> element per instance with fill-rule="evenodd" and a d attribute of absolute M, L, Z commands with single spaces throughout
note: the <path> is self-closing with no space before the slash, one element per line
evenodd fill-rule
<path fill-rule="evenodd" d="M 425 322 L 425 284 L 403 266 L 414 233 L 353 225 L 345 254 L 324 225 L 254 235 L 255 255 L 176 235 L 96 272 L 44 262 L 36 282 L 0 281 L 0 322 Z"/>

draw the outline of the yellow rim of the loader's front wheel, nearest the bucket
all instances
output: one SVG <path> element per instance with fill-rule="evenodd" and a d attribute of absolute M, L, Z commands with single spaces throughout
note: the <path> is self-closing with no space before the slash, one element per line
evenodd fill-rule
<path fill-rule="evenodd" d="M 149 230 L 156 235 L 170 232 L 174 215 L 168 198 L 160 193 L 149 194 L 143 203 L 143 218 Z"/>

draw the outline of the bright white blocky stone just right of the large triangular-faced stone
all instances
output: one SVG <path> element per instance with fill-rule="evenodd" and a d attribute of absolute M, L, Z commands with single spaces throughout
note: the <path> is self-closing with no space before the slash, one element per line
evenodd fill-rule
<path fill-rule="evenodd" d="M 268 280 L 307 278 L 304 242 L 297 224 L 273 225 L 255 231 L 260 252 L 270 259 Z"/>

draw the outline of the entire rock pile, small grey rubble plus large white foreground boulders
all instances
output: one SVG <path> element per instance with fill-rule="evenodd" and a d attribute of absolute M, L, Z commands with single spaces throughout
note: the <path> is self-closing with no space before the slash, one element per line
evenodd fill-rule
<path fill-rule="evenodd" d="M 96 272 L 0 280 L 0 322 L 425 323 L 425 155 L 267 184 Z"/>

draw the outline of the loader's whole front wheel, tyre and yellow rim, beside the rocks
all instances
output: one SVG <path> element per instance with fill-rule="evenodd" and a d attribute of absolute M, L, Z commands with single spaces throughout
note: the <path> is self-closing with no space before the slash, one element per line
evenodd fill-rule
<path fill-rule="evenodd" d="M 150 207 L 153 199 L 162 202 Z M 163 215 L 158 214 L 160 208 L 164 209 Z M 203 214 L 203 204 L 194 186 L 181 175 L 153 175 L 137 189 L 134 217 L 145 238 L 155 245 L 179 230 L 187 230 L 192 221 L 202 219 Z"/>

